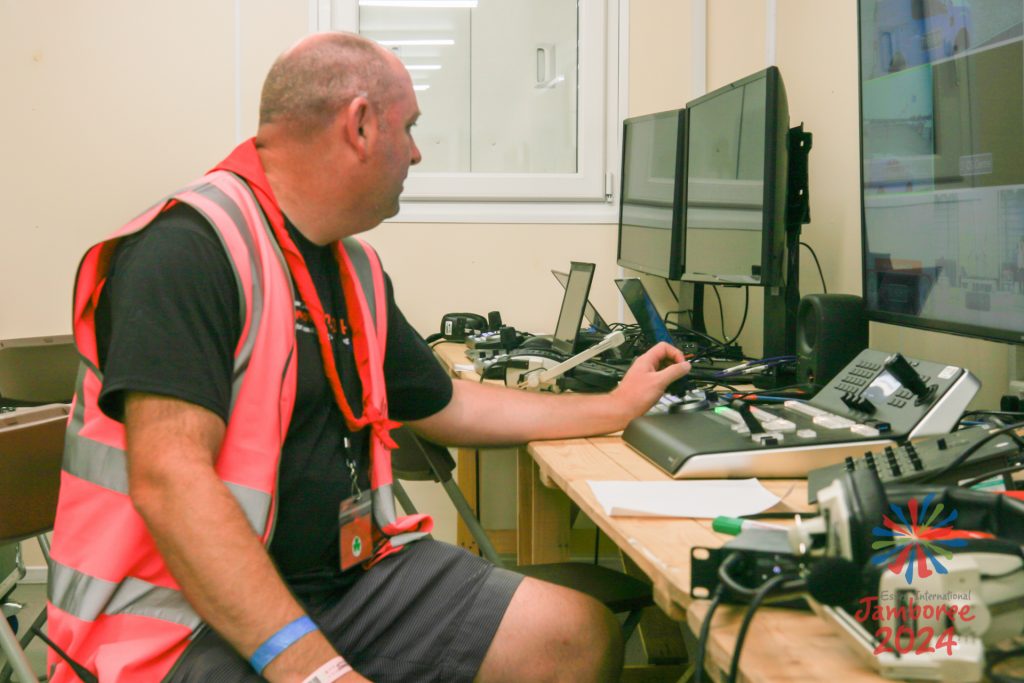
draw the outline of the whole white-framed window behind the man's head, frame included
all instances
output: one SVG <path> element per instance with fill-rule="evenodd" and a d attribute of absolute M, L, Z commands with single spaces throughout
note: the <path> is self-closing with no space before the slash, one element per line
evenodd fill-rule
<path fill-rule="evenodd" d="M 357 31 L 410 69 L 423 161 L 406 182 L 407 217 L 433 217 L 438 201 L 475 203 L 481 216 L 483 203 L 607 206 L 618 0 L 310 2 L 316 29 Z"/>

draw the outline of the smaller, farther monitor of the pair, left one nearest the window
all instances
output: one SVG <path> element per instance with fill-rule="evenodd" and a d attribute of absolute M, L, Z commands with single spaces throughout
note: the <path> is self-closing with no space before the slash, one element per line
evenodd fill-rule
<path fill-rule="evenodd" d="M 671 280 L 682 273 L 685 139 L 686 110 L 623 122 L 617 263 L 624 268 Z"/>

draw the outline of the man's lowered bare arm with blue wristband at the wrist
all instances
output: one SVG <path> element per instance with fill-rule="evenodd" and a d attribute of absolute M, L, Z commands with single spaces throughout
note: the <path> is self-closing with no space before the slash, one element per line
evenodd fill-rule
<path fill-rule="evenodd" d="M 193 608 L 249 658 L 305 612 L 214 470 L 223 421 L 182 400 L 129 393 L 125 428 L 135 509 Z M 334 656 L 331 643 L 314 631 L 263 676 L 275 683 L 302 681 Z M 351 676 L 343 680 L 365 680 Z"/>

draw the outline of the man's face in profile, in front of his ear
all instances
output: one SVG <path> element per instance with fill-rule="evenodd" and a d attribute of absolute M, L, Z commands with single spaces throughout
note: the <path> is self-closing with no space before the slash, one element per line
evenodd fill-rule
<path fill-rule="evenodd" d="M 398 213 L 398 196 L 401 195 L 409 167 L 420 163 L 420 150 L 413 139 L 413 126 L 420 117 L 413 83 L 402 68 L 398 95 L 382 108 L 378 152 L 379 183 L 375 191 L 377 205 L 383 214 L 381 220 Z"/>

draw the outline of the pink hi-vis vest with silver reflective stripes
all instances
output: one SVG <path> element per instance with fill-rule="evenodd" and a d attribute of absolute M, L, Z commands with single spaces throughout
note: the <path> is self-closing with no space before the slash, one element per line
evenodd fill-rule
<path fill-rule="evenodd" d="M 94 315 L 111 257 L 121 239 L 145 228 L 173 203 L 187 204 L 213 225 L 242 294 L 230 415 L 215 468 L 264 545 L 276 513 L 281 447 L 295 403 L 292 281 L 260 202 L 239 176 L 211 172 L 86 253 L 75 285 L 74 333 L 82 362 L 53 529 L 48 630 L 57 646 L 103 683 L 161 680 L 202 627 L 128 497 L 124 426 L 97 405 L 103 378 Z M 368 362 L 358 365 L 364 416 L 372 416 L 367 424 L 374 521 L 382 533 L 376 560 L 428 533 L 432 521 L 395 513 L 387 447 L 393 423 L 387 420 L 383 370 L 384 275 L 368 245 L 347 239 L 343 246 L 339 266 L 357 299 L 347 302 L 348 316 L 353 326 L 362 322 L 369 341 Z M 52 652 L 50 666 L 51 681 L 78 680 Z"/>

